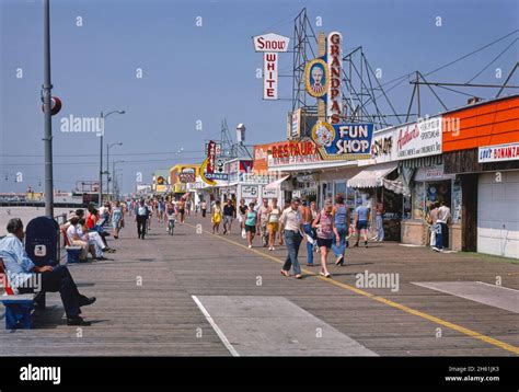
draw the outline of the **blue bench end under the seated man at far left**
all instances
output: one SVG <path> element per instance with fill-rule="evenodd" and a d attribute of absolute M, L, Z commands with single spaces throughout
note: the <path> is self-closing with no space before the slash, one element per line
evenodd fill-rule
<path fill-rule="evenodd" d="M 5 330 L 31 330 L 31 315 L 37 302 L 38 293 L 15 295 L 9 286 L 2 258 L 0 258 L 0 275 L 3 280 L 3 287 L 0 287 L 0 291 L 1 289 L 4 290 L 4 293 L 0 295 L 0 302 L 5 307 Z"/>

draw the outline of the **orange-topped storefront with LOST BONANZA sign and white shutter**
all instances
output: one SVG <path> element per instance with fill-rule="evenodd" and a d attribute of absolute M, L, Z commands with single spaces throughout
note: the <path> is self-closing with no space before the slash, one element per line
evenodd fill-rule
<path fill-rule="evenodd" d="M 445 115 L 445 172 L 459 178 L 461 249 L 519 258 L 519 96 Z"/>

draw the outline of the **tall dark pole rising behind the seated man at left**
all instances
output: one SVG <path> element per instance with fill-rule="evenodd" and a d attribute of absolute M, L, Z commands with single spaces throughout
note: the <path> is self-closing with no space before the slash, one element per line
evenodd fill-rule
<path fill-rule="evenodd" d="M 53 119 L 50 83 L 50 4 L 44 0 L 44 118 L 45 118 L 45 215 L 54 217 Z"/>

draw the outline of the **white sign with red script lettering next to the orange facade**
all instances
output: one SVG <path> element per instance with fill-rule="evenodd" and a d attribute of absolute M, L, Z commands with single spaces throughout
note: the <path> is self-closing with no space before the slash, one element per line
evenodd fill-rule
<path fill-rule="evenodd" d="M 441 116 L 397 127 L 396 157 L 400 160 L 441 153 Z"/>

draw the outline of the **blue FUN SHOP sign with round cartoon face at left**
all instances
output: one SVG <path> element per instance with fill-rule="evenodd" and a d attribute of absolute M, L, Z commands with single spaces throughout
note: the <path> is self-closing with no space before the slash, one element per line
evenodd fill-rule
<path fill-rule="evenodd" d="M 328 124 L 318 122 L 312 139 L 324 160 L 371 159 L 373 124 Z"/>

